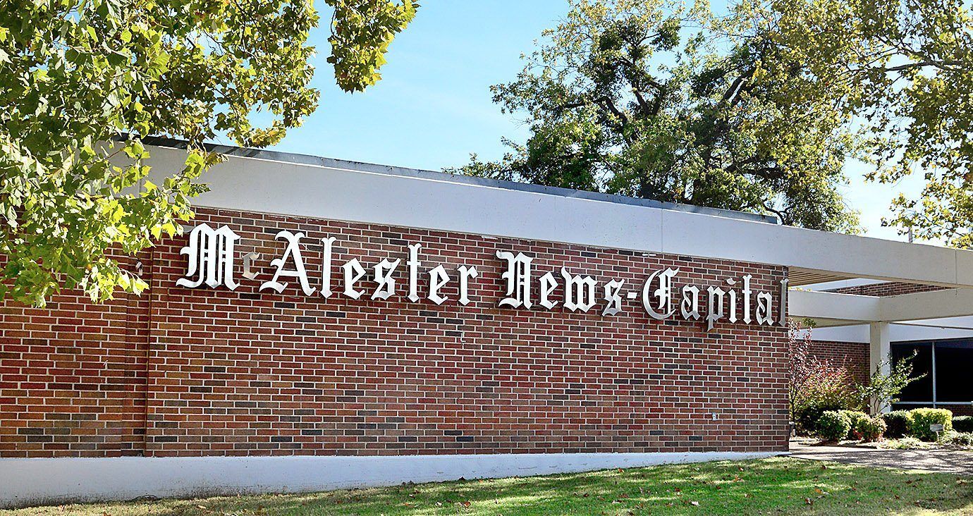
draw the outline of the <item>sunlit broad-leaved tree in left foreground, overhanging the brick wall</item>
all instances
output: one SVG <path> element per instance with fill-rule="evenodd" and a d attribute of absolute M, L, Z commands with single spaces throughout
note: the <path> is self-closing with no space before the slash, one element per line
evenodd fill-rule
<path fill-rule="evenodd" d="M 326 0 L 347 92 L 374 84 L 417 5 Z M 196 182 L 219 161 L 203 140 L 279 141 L 318 92 L 310 0 L 6 0 L 0 7 L 0 299 L 43 305 L 62 287 L 93 300 L 146 284 L 106 255 L 181 232 Z M 266 127 L 251 115 L 269 114 Z M 185 167 L 143 181 L 143 136 L 185 138 Z M 139 187 L 140 186 L 140 187 Z"/>

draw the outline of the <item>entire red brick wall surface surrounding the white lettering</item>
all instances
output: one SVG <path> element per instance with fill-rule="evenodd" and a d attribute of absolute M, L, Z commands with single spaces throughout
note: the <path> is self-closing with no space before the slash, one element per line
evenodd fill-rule
<path fill-rule="evenodd" d="M 751 274 L 775 307 L 782 268 L 229 211 L 200 210 L 203 221 L 230 225 L 238 255 L 262 253 L 256 280 L 237 259 L 235 291 L 176 287 L 182 238 L 142 258 L 141 298 L 2 308 L 0 457 L 786 449 L 785 329 L 722 321 L 707 333 L 633 301 L 614 316 L 498 308 L 495 253 L 533 255 L 535 277 L 565 266 L 626 289 L 668 266 L 677 286 Z M 436 265 L 475 265 L 472 303 L 455 302 L 455 281 L 442 306 L 409 302 L 404 264 L 386 301 L 306 296 L 296 281 L 258 292 L 282 229 L 337 237 L 336 278 L 345 260 L 405 262 L 419 242 L 420 292 Z M 303 252 L 319 287 L 320 246 Z"/>

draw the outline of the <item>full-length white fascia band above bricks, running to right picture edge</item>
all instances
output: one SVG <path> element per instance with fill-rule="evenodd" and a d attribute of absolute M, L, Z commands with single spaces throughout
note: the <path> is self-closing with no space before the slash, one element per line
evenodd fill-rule
<path fill-rule="evenodd" d="M 153 147 L 150 179 L 184 152 Z M 973 287 L 973 252 L 731 217 L 511 190 L 430 176 L 230 156 L 200 206 L 742 260 L 876 279 Z M 962 274 L 958 264 L 970 267 Z"/>

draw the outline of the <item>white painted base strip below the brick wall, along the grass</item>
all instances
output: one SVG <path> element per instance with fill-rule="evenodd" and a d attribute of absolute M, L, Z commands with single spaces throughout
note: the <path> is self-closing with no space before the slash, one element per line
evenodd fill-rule
<path fill-rule="evenodd" d="M 142 496 L 296 493 L 463 478 L 760 459 L 778 453 L 0 459 L 0 508 Z"/>

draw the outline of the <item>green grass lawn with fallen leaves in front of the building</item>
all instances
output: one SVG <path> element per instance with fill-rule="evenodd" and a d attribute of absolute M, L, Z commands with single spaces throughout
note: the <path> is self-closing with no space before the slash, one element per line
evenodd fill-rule
<path fill-rule="evenodd" d="M 766 459 L 334 491 L 0 510 L 0 516 L 971 514 L 973 477 Z"/>

